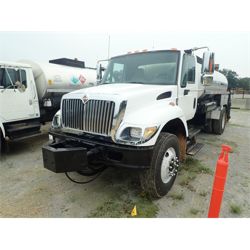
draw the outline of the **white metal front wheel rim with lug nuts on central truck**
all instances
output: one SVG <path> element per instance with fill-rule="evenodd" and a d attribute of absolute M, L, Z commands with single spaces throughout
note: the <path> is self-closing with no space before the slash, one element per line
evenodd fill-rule
<path fill-rule="evenodd" d="M 178 168 L 178 159 L 174 148 L 168 148 L 161 163 L 161 180 L 168 183 L 176 175 Z"/>

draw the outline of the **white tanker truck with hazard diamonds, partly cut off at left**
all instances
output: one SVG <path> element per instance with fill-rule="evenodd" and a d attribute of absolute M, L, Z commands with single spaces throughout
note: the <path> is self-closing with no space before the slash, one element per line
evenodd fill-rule
<path fill-rule="evenodd" d="M 0 61 L 0 152 L 5 141 L 40 133 L 63 94 L 96 84 L 96 69 L 67 58 L 50 63 Z"/>

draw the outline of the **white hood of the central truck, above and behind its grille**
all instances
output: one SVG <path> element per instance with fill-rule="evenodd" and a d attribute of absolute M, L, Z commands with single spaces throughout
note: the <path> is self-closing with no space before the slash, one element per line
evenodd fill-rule
<path fill-rule="evenodd" d="M 167 92 L 171 92 L 167 93 Z M 167 93 L 165 95 L 164 93 Z M 164 95 L 162 95 L 164 94 Z M 159 96 L 162 95 L 162 98 Z M 126 101 L 123 122 L 131 124 L 154 123 L 152 112 L 164 111 L 162 107 L 169 106 L 170 101 L 176 100 L 177 86 L 145 85 L 145 84 L 104 84 L 71 92 L 63 99 L 107 100 L 115 103 L 115 114 L 118 114 L 120 104 Z M 151 115 L 150 115 L 151 114 Z M 164 118 L 164 117 L 163 117 Z"/>

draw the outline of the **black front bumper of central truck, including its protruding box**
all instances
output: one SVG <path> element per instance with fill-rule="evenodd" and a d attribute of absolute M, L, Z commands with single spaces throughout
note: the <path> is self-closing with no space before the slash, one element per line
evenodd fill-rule
<path fill-rule="evenodd" d="M 51 131 L 54 142 L 43 146 L 44 167 L 56 172 L 79 171 L 87 165 L 149 168 L 153 147 L 124 146 Z"/>

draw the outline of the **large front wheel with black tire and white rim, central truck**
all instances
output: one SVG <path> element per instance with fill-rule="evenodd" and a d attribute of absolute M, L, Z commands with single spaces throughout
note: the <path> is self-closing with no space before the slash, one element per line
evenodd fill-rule
<path fill-rule="evenodd" d="M 161 198 L 174 184 L 179 167 L 178 138 L 161 133 L 154 148 L 151 166 L 140 173 L 144 191 L 152 198 Z"/>

